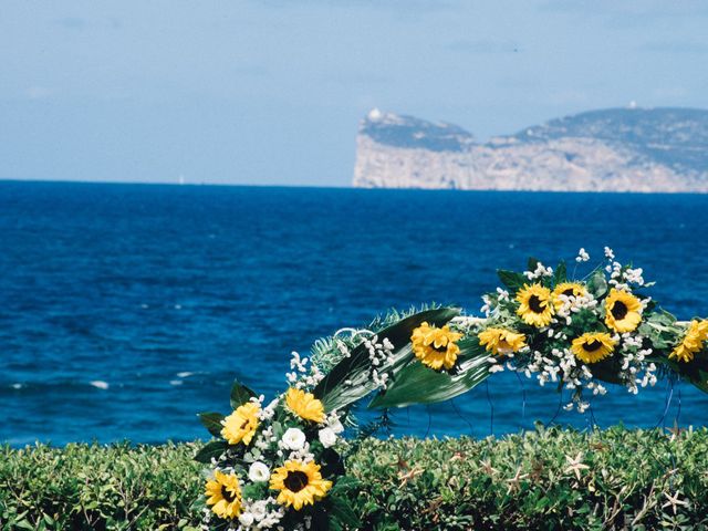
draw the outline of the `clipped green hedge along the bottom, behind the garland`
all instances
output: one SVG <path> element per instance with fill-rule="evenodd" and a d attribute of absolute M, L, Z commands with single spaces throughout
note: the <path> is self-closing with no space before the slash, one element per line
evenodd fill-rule
<path fill-rule="evenodd" d="M 0 529 L 192 530 L 198 446 L 1 447 Z M 365 529 L 708 529 L 705 428 L 367 440 L 348 471 Z"/>

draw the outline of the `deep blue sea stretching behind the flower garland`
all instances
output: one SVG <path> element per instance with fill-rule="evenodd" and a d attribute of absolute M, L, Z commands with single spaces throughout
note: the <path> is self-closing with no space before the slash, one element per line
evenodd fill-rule
<path fill-rule="evenodd" d="M 667 310 L 708 315 L 707 227 L 698 195 L 0 183 L 0 441 L 204 437 L 195 414 L 227 412 L 235 376 L 275 393 L 291 351 L 388 308 L 478 309 L 496 268 L 530 254 L 584 247 L 594 264 L 611 246 L 658 280 Z M 561 397 L 534 382 L 494 375 L 454 404 L 396 412 L 396 433 L 548 421 Z M 706 425 L 708 396 L 611 387 L 593 413 Z"/>

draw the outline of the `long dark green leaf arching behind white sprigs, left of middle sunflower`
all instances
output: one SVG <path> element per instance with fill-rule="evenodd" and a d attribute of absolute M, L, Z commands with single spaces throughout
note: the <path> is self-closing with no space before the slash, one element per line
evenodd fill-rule
<path fill-rule="evenodd" d="M 459 315 L 458 308 L 439 308 L 426 310 L 403 319 L 376 334 L 378 341 L 385 337 L 394 345 L 392 361 L 377 367 L 379 372 L 399 372 L 413 357 L 410 334 L 413 330 L 427 322 L 435 326 L 442 326 L 452 317 Z M 375 384 L 369 375 L 371 360 L 364 344 L 356 346 L 351 356 L 337 363 L 322 382 L 314 388 L 313 394 L 322 400 L 325 410 L 331 412 L 360 400 L 369 394 Z M 350 382 L 345 385 L 345 382 Z"/>

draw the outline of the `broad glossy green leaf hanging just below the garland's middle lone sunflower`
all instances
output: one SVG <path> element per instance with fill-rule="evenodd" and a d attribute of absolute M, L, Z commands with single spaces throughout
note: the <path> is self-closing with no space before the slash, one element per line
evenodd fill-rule
<path fill-rule="evenodd" d="M 457 374 L 437 372 L 416 361 L 404 368 L 394 384 L 378 394 L 368 407 L 405 407 L 445 402 L 482 383 L 490 374 L 489 354 L 479 346 L 476 337 L 460 342 L 459 346 L 460 365 Z"/>

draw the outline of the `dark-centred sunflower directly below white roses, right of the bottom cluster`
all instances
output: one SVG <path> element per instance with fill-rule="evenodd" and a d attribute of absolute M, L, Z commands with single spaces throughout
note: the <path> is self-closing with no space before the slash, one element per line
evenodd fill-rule
<path fill-rule="evenodd" d="M 292 506 L 295 511 L 299 511 L 303 506 L 312 506 L 327 496 L 332 481 L 322 479 L 320 465 L 315 465 L 314 461 L 290 460 L 273 470 L 270 488 L 280 490 L 278 503 Z"/>

